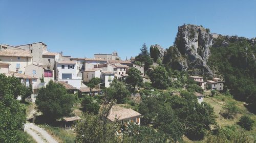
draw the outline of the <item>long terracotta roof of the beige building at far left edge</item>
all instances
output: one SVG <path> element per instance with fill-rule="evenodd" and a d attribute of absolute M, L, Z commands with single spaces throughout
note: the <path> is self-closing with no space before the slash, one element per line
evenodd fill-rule
<path fill-rule="evenodd" d="M 0 51 L 0 56 L 32 57 L 29 50 L 5 49 Z"/>

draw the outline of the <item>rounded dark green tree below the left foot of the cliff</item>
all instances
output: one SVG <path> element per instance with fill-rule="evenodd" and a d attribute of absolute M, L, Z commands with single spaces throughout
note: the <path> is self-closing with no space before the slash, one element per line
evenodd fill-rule
<path fill-rule="evenodd" d="M 150 80 L 154 88 L 166 89 L 169 84 L 169 76 L 164 67 L 156 67 L 150 73 Z"/>

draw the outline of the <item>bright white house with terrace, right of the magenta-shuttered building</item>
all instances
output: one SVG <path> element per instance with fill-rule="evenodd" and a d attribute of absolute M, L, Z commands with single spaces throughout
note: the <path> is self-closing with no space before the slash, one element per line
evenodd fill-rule
<path fill-rule="evenodd" d="M 81 88 L 77 61 L 59 61 L 56 65 L 58 81 L 65 81 L 77 89 Z"/>

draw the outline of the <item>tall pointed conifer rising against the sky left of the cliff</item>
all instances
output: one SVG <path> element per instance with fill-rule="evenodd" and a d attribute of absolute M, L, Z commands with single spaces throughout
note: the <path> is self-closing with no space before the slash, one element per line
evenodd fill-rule
<path fill-rule="evenodd" d="M 144 70 L 147 70 L 147 68 L 150 67 L 150 65 L 153 64 L 152 59 L 150 58 L 150 53 L 147 50 L 147 46 L 144 43 L 142 47 L 140 48 L 140 53 L 135 57 L 135 61 L 144 63 Z"/>

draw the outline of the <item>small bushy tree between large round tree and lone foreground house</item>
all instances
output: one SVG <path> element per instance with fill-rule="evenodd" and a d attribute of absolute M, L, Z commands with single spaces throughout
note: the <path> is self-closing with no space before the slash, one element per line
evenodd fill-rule
<path fill-rule="evenodd" d="M 97 115 L 99 112 L 100 105 L 97 101 L 94 102 L 94 98 L 91 96 L 83 97 L 81 105 L 84 112 L 93 113 L 94 115 Z"/>

